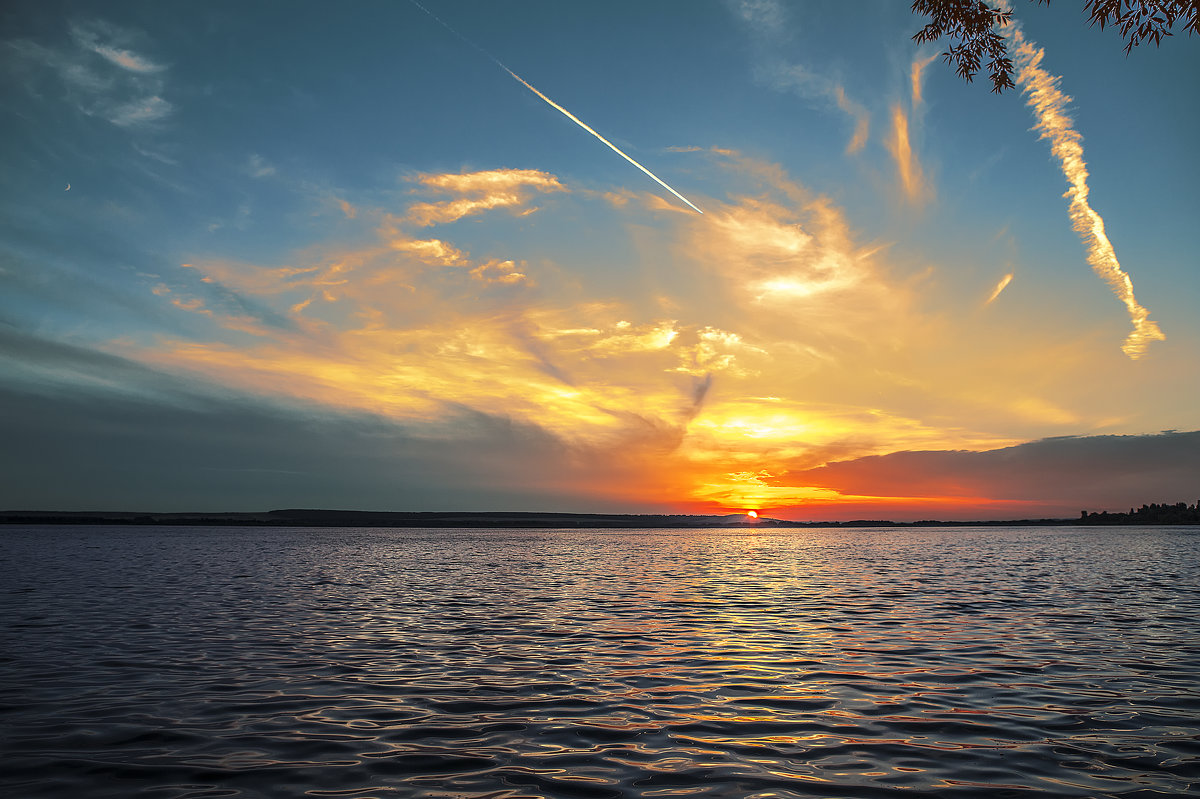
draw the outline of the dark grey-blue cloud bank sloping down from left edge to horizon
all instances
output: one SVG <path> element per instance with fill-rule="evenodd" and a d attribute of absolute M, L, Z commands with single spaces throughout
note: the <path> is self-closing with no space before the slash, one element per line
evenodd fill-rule
<path fill-rule="evenodd" d="M 4 325 L 0 354 L 0 510 L 629 510 L 581 489 L 586 458 L 505 417 L 463 410 L 418 435 Z"/>

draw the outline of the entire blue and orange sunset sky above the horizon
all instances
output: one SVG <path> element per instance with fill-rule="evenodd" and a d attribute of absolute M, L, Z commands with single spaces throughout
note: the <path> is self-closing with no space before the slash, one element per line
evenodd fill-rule
<path fill-rule="evenodd" d="M 5 4 L 0 510 L 1200 497 L 1200 40 L 1016 4 L 1055 132 L 908 2 L 422 5 Z"/>

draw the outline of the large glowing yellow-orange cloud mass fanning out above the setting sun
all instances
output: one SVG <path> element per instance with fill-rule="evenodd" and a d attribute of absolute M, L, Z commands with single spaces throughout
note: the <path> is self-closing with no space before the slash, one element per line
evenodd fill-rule
<path fill-rule="evenodd" d="M 632 270 L 660 271 L 646 296 L 616 299 L 602 270 L 568 275 L 570 264 L 517 257 L 498 242 L 474 239 L 475 254 L 452 233 L 416 238 L 425 217 L 413 209 L 430 205 L 418 194 L 392 214 L 362 215 L 383 220 L 374 241 L 312 247 L 284 265 L 193 262 L 187 271 L 202 286 L 241 298 L 211 317 L 210 340 L 114 347 L 431 438 L 452 439 L 464 414 L 506 420 L 557 443 L 562 480 L 577 481 L 571 491 L 697 509 L 874 507 L 900 500 L 821 483 L 812 469 L 904 449 L 1015 443 L 996 426 L 973 426 L 980 417 L 1051 431 L 1087 423 L 1034 388 L 1013 392 L 1033 385 L 1037 364 L 1018 352 L 980 360 L 974 342 L 948 332 L 952 320 L 925 305 L 928 278 L 896 274 L 884 245 L 856 241 L 828 198 L 775 164 L 733 152 L 719 163 L 746 193 L 706 203 L 703 217 L 612 206 L 630 230 L 658 214 Z M 476 198 L 516 186 L 521 203 L 539 191 L 530 186 L 559 185 L 520 170 L 414 182 Z M 246 311 L 258 306 L 276 322 Z M 1087 368 L 1082 358 L 1061 360 Z M 971 370 L 979 379 L 958 385 Z"/>

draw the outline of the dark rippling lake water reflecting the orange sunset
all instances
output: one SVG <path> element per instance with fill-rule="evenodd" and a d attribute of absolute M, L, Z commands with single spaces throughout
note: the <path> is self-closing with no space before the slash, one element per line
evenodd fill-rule
<path fill-rule="evenodd" d="M 6 797 L 1200 789 L 1200 529 L 0 528 Z"/>

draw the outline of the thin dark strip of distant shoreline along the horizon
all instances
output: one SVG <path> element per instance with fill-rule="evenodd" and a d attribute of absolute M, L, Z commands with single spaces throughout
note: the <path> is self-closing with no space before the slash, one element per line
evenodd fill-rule
<path fill-rule="evenodd" d="M 1146 506 L 1144 506 L 1146 507 Z M 1153 506 L 1158 509 L 1159 506 Z M 1175 510 L 1175 506 L 1163 506 Z M 1186 507 L 1186 506 L 1184 506 Z M 0 524 L 113 524 L 185 527 L 394 527 L 394 528 L 578 528 L 578 529 L 664 529 L 664 528 L 904 528 L 904 527 L 1075 527 L 1112 524 L 1200 524 L 1200 517 L 1181 521 L 1152 521 L 1158 513 L 1091 513 L 1079 518 L 1022 518 L 988 521 L 893 522 L 852 519 L 845 522 L 791 522 L 776 518 L 749 521 L 742 513 L 724 516 L 661 513 L 553 513 L 553 512 L 452 512 L 452 511 L 343 511 L 289 509 L 262 512 L 176 512 L 137 511 L 0 511 Z M 1195 513 L 1186 513 L 1195 517 Z M 1144 518 L 1142 518 L 1144 517 Z"/>

